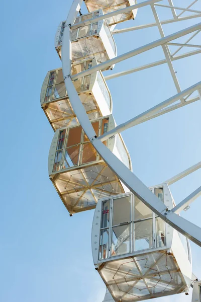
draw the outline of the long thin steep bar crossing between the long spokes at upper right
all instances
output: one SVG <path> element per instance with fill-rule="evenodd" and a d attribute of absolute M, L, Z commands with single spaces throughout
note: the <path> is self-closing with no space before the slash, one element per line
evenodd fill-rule
<path fill-rule="evenodd" d="M 158 30 L 159 30 L 159 32 L 160 32 L 161 38 L 164 38 L 165 35 L 164 35 L 164 32 L 163 32 L 162 26 L 161 26 L 161 24 L 160 24 L 160 20 L 159 20 L 159 18 L 158 18 L 158 15 L 157 15 L 157 13 L 156 13 L 156 9 L 155 9 L 155 7 L 154 7 L 153 5 L 151 5 L 151 9 L 152 9 L 152 13 L 153 13 L 153 15 L 154 15 L 156 24 L 157 24 L 157 26 L 158 26 Z M 168 45 L 162 45 L 162 49 L 163 49 L 163 52 L 164 52 L 164 55 L 165 55 L 165 59 L 166 59 L 166 61 L 167 61 L 167 65 L 168 65 L 168 67 L 169 67 L 169 70 L 170 70 L 172 79 L 173 79 L 173 81 L 174 81 L 174 85 L 175 85 L 175 87 L 176 87 L 177 92 L 179 93 L 179 92 L 181 91 L 181 88 L 180 88 L 178 79 L 177 79 L 177 77 L 176 77 L 174 67 L 173 67 L 173 65 L 172 65 L 169 47 L 168 47 Z M 182 102 L 182 103 L 185 102 L 183 98 L 181 98 L 181 102 Z"/>

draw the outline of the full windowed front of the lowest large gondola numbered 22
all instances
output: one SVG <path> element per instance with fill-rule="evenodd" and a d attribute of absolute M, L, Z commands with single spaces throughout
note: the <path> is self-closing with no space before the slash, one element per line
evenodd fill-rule
<path fill-rule="evenodd" d="M 102 201 L 99 260 L 164 247 L 165 237 L 165 222 L 133 194 Z"/>

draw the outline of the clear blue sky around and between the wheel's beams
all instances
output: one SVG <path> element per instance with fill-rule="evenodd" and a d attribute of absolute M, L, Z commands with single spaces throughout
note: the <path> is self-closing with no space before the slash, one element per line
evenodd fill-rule
<path fill-rule="evenodd" d="M 47 71 L 61 66 L 54 36 L 71 3 L 11 0 L 1 5 L 2 302 L 101 302 L 105 294 L 91 255 L 93 210 L 69 217 L 47 169 L 54 133 L 40 107 L 40 90 Z M 174 3 L 187 7 L 190 1 Z M 201 10 L 200 1 L 193 8 Z M 166 9 L 157 12 L 162 20 L 172 18 Z M 150 8 L 142 8 L 135 20 L 117 28 L 150 22 L 154 22 Z M 163 28 L 169 34 L 198 22 L 196 18 Z M 157 28 L 150 28 L 114 37 L 118 54 L 122 54 L 160 35 Z M 199 44 L 199 37 L 191 43 Z M 158 47 L 117 64 L 112 72 L 163 58 Z M 200 81 L 200 62 L 200 54 L 174 62 L 182 90 Z M 117 124 L 176 93 L 166 64 L 110 80 L 108 86 Z M 197 101 L 123 133 L 133 171 L 147 186 L 161 183 L 200 161 L 200 111 Z M 176 203 L 200 186 L 200 177 L 201 171 L 196 171 L 171 186 Z M 200 202 L 201 198 L 197 199 L 182 213 L 199 226 Z M 193 272 L 201 278 L 201 250 L 194 244 L 191 249 Z M 191 298 L 180 294 L 157 300 L 189 302 Z"/>

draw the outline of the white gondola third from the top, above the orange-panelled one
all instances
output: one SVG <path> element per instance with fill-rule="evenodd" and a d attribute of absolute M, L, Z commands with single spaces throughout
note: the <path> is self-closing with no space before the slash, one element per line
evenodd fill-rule
<path fill-rule="evenodd" d="M 95 59 L 72 64 L 72 74 L 94 65 Z M 102 71 L 93 72 L 73 83 L 89 119 L 112 113 L 112 97 Z M 41 106 L 54 130 L 78 124 L 67 96 L 62 68 L 48 71 L 41 90 Z"/>

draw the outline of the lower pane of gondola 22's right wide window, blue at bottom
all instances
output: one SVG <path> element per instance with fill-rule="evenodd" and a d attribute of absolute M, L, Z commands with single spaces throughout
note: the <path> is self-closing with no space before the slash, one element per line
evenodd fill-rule
<path fill-rule="evenodd" d="M 134 223 L 135 251 L 153 248 L 153 219 Z"/>

